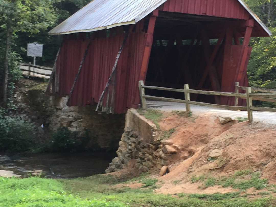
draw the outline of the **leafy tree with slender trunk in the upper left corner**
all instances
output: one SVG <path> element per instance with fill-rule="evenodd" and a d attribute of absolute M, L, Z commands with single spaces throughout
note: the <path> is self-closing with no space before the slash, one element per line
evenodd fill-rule
<path fill-rule="evenodd" d="M 7 106 L 9 54 L 12 41 L 19 31 L 39 33 L 55 25 L 57 19 L 51 0 L 0 0 L 0 35 L 6 42 L 2 86 L 4 107 Z"/>

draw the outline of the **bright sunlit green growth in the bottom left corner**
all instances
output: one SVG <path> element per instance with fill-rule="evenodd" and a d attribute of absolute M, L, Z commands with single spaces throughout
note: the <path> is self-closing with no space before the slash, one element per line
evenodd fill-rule
<path fill-rule="evenodd" d="M 62 183 L 45 178 L 1 178 L 0 206 L 17 207 L 123 207 L 118 201 L 83 200 L 67 194 Z"/>

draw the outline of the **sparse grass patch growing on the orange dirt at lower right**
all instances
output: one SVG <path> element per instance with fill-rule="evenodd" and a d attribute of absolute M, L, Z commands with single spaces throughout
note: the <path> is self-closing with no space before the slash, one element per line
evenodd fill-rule
<path fill-rule="evenodd" d="M 248 178 L 246 178 L 247 176 Z M 268 180 L 267 179 L 260 179 L 259 172 L 251 172 L 250 170 L 243 170 L 238 171 L 234 175 L 230 177 L 200 177 L 193 176 L 191 178 L 191 182 L 201 181 L 204 184 L 204 188 L 214 186 L 214 185 L 221 185 L 224 188 L 232 187 L 235 189 L 246 190 L 248 188 L 254 187 L 256 190 L 263 189 L 267 187 Z"/>

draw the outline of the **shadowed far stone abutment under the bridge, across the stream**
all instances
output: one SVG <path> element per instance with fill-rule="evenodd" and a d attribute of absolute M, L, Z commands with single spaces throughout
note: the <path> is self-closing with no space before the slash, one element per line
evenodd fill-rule
<path fill-rule="evenodd" d="M 105 114 L 95 112 L 96 105 L 84 107 L 67 106 L 67 97 L 46 96 L 41 90 L 29 91 L 31 105 L 37 111 L 45 127 L 56 131 L 66 126 L 71 131 L 78 132 L 78 136 L 88 133 L 90 138 L 87 148 L 116 149 L 124 131 L 124 114 Z M 93 147 L 92 146 L 92 147 Z"/>

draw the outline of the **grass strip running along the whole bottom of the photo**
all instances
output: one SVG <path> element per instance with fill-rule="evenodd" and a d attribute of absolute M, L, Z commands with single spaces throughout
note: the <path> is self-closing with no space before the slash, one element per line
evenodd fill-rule
<path fill-rule="evenodd" d="M 39 177 L 0 178 L 0 207 L 269 207 L 273 198 L 249 200 L 238 197 L 240 192 L 214 194 L 155 194 L 156 179 L 143 175 L 147 188 L 116 188 L 114 183 L 126 177 L 94 175 L 87 178 L 53 180 Z M 203 179 L 203 178 L 202 178 Z"/>

